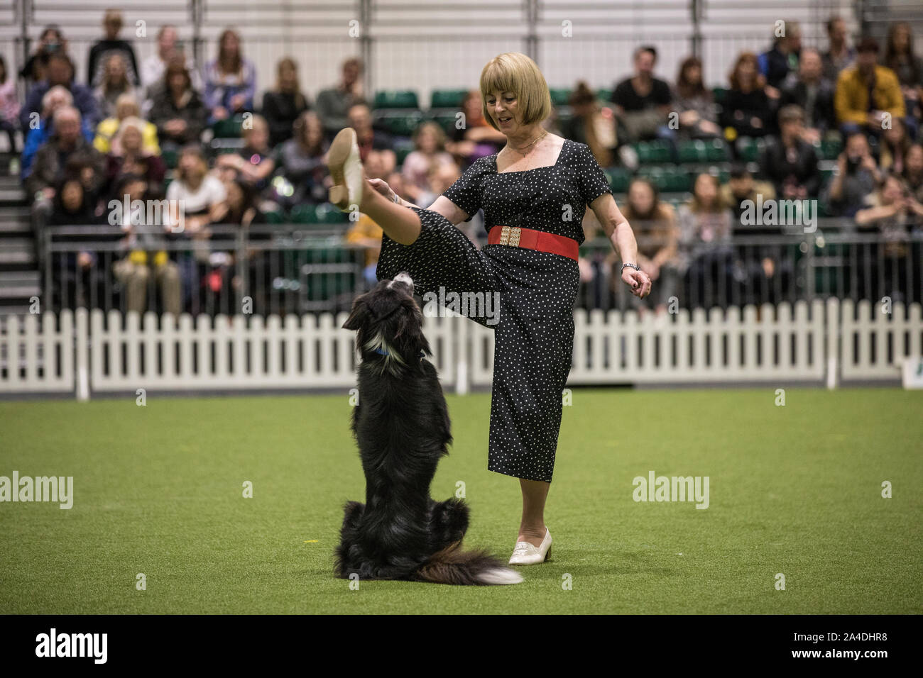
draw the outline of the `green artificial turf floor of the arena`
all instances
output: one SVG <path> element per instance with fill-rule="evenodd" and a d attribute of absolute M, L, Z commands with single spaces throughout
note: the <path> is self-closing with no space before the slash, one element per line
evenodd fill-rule
<path fill-rule="evenodd" d="M 464 482 L 466 544 L 507 558 L 521 501 L 486 470 L 489 395 L 448 399 L 432 495 Z M 0 504 L 0 613 L 923 612 L 923 392 L 775 399 L 575 389 L 552 560 L 512 587 L 357 590 L 331 574 L 342 504 L 365 496 L 347 395 L 3 402 L 0 475 L 73 476 L 75 497 Z M 651 470 L 709 476 L 710 506 L 633 501 Z"/>

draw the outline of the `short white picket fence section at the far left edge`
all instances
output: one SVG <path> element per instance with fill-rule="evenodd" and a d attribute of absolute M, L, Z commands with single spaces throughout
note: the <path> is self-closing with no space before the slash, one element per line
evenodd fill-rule
<path fill-rule="evenodd" d="M 0 393 L 74 390 L 74 315 L 0 316 Z"/>

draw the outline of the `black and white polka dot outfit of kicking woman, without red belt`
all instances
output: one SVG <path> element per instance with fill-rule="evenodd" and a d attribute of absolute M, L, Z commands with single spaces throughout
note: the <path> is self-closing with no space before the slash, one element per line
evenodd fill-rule
<path fill-rule="evenodd" d="M 488 232 L 521 226 L 581 244 L 586 206 L 611 192 L 589 147 L 566 139 L 554 165 L 497 172 L 497 155 L 486 156 L 443 195 L 471 216 L 483 208 Z M 420 295 L 438 294 L 440 286 L 446 293 L 499 293 L 498 321 L 469 315 L 494 330 L 487 469 L 551 482 L 573 354 L 577 262 L 507 244 L 478 249 L 442 215 L 412 209 L 422 222 L 420 235 L 409 245 L 382 237 L 378 280 L 405 270 Z"/>

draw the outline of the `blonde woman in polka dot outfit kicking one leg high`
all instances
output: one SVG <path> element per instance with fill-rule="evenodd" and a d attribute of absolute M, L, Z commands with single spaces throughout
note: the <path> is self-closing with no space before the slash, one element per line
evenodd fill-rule
<path fill-rule="evenodd" d="M 330 202 L 381 226 L 378 280 L 405 285 L 408 293 L 485 300 L 468 304 L 466 315 L 494 330 L 487 469 L 520 481 L 522 515 L 509 563 L 533 565 L 551 547 L 545 499 L 573 354 L 587 206 L 624 262 L 621 278 L 632 293 L 647 296 L 651 280 L 638 266 L 634 233 L 589 147 L 543 128 L 551 97 L 533 60 L 499 54 L 481 71 L 480 89 L 485 119 L 507 145 L 474 161 L 429 208 L 366 179 L 350 127 L 330 144 Z M 455 225 L 481 209 L 487 244 L 478 249 Z M 365 349 L 362 357 L 383 359 Z M 419 356 L 402 358 L 408 375 L 418 369 Z"/>

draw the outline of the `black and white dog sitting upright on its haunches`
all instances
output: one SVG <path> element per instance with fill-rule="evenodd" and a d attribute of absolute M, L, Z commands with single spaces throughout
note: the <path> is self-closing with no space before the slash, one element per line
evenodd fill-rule
<path fill-rule="evenodd" d="M 353 433 L 366 503 L 344 506 L 338 577 L 438 584 L 518 584 L 521 575 L 484 551 L 462 551 L 469 508 L 437 502 L 429 483 L 452 440 L 449 410 L 406 273 L 357 297 L 343 324 L 356 330 L 359 403 Z"/>

